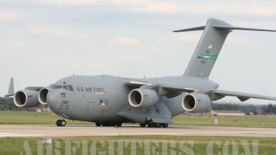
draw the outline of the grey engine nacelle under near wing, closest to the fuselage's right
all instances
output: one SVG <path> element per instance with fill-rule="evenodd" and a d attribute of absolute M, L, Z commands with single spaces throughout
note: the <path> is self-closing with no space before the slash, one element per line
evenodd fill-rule
<path fill-rule="evenodd" d="M 135 89 L 128 94 L 128 101 L 132 107 L 151 107 L 159 101 L 155 90 Z"/>

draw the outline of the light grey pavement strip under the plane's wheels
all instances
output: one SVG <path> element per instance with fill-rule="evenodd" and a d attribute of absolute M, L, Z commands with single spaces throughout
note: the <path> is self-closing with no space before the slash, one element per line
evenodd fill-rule
<path fill-rule="evenodd" d="M 169 125 L 163 127 L 96 127 L 95 125 L 0 125 L 0 137 L 30 136 L 117 136 L 117 135 L 182 135 L 182 136 L 252 136 L 276 137 L 276 127 Z"/>

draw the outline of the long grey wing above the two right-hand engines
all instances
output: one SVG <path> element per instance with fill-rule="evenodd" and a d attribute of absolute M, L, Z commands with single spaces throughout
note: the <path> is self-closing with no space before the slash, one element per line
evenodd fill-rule
<path fill-rule="evenodd" d="M 173 91 L 173 92 L 195 92 L 195 91 L 206 91 L 211 92 L 213 95 L 219 96 L 236 96 L 240 101 L 246 101 L 248 99 L 266 99 L 276 101 L 276 97 L 264 96 L 258 94 L 248 94 L 244 92 L 232 92 L 227 90 L 216 90 L 216 89 L 206 89 L 199 87 L 188 87 L 185 85 L 174 85 L 174 84 L 163 84 L 161 87 L 164 90 Z"/>

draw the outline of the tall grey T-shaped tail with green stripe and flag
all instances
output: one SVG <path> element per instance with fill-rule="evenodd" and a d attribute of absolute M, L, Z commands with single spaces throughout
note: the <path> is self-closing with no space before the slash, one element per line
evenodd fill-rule
<path fill-rule="evenodd" d="M 173 32 L 187 32 L 195 30 L 204 30 L 204 32 L 199 40 L 199 43 L 197 44 L 197 48 L 195 49 L 192 59 L 190 59 L 190 63 L 188 64 L 184 75 L 199 76 L 204 78 L 209 77 L 210 72 L 215 65 L 215 61 L 219 56 L 222 45 L 224 45 L 227 35 L 232 32 L 232 30 L 276 32 L 276 30 L 234 27 L 219 19 L 208 19 L 205 26 L 177 30 Z"/>

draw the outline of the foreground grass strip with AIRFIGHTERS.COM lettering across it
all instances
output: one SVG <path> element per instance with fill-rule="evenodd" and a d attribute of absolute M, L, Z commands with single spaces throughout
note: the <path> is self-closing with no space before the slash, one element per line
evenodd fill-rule
<path fill-rule="evenodd" d="M 39 144 L 39 145 L 38 145 Z M 87 145 L 85 145 L 87 144 Z M 133 145 L 135 144 L 135 145 Z M 25 146 L 25 147 L 24 147 Z M 47 150 L 48 149 L 48 150 Z M 0 138 L 10 154 L 276 154 L 275 138 L 229 136 L 92 136 L 55 137 L 52 145 L 39 138 Z M 136 153 L 135 153 L 136 152 Z M 219 153 L 220 152 L 220 153 Z"/>

